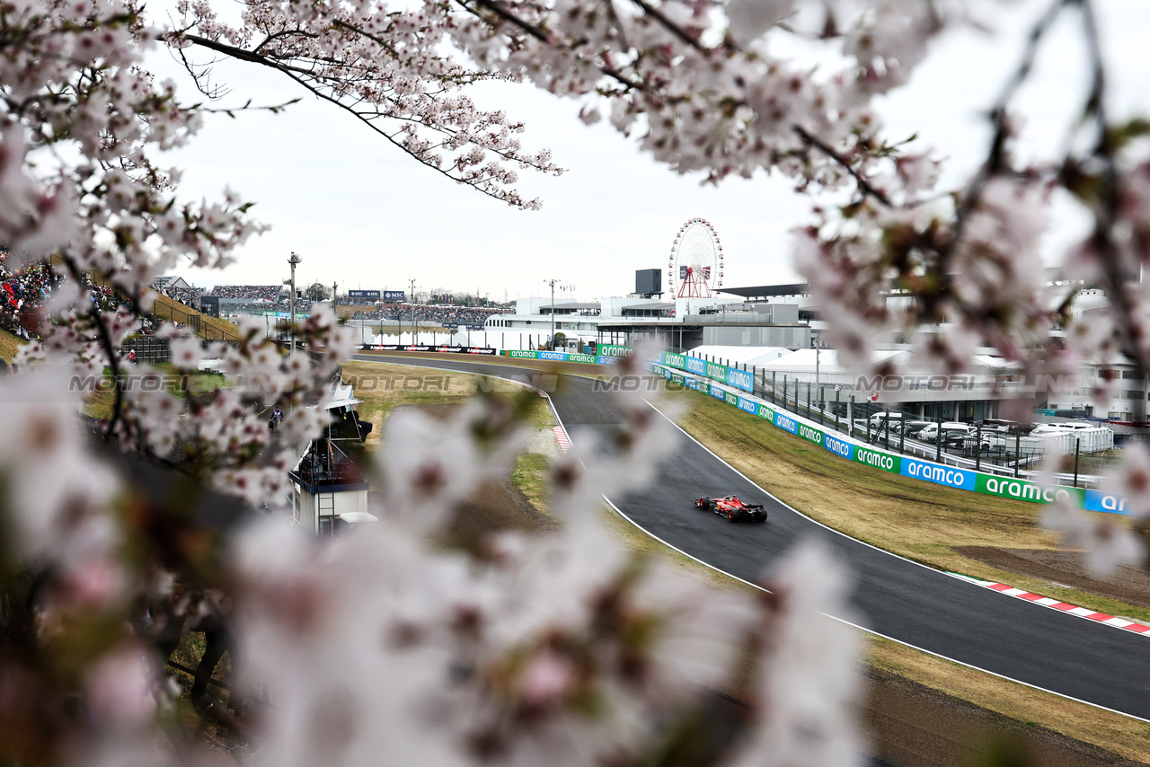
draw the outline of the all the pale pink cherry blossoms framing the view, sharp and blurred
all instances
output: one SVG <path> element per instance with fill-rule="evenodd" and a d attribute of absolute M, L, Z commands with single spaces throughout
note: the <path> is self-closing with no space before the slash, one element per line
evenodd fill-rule
<path fill-rule="evenodd" d="M 178 197 L 179 171 L 160 158 L 212 107 L 181 101 L 140 57 L 169 46 L 209 102 L 221 94 L 214 57 L 269 68 L 429 169 L 520 208 L 538 201 L 515 191 L 516 169 L 560 169 L 466 89 L 529 82 L 577 99 L 585 122 L 606 117 L 677 172 L 712 183 L 780 172 L 816 195 L 795 252 L 844 361 L 869 365 L 900 333 L 914 365 L 946 373 L 982 345 L 1032 371 L 1126 353 L 1145 373 L 1150 293 L 1132 276 L 1150 259 L 1150 123 L 1112 118 L 1104 77 L 1066 154 L 1022 162 L 1011 99 L 1023 60 L 990 110 L 987 161 L 961 189 L 938 189 L 937 153 L 883 136 L 875 98 L 905 85 L 940 34 L 988 25 L 999 5 L 245 0 L 229 24 L 207 0 L 181 0 L 158 26 L 123 0 L 0 0 L 0 244 L 13 261 L 70 277 L 20 352 L 21 375 L 0 378 L 0 760 L 210 759 L 164 667 L 179 637 L 205 626 L 232 638 L 233 695 L 251 704 L 237 704 L 238 719 L 209 711 L 255 761 L 857 760 L 854 637 L 825 618 L 844 614 L 846 576 L 827 554 L 792 553 L 766 596 L 716 590 L 628 553 L 596 523 L 604 493 L 642 486 L 673 447 L 669 423 L 639 399 L 621 401 L 610 439 L 577 437 L 552 467 L 560 532 L 444 542 L 468 493 L 522 445 L 521 408 L 497 397 L 448 422 L 389 421 L 379 454 L 390 459 L 369 468 L 383 496 L 371 529 L 305 539 L 274 508 L 238 532 L 205 526 L 197 509 L 223 503 L 213 490 L 253 506 L 285 496 L 291 462 L 325 425 L 304 404 L 329 390 L 354 339 L 322 307 L 297 329 L 308 354 L 252 324 L 227 347 L 167 328 L 183 385 L 126 385 L 120 353 L 151 308 L 146 286 L 177 264 L 222 268 L 262 231 L 230 190 Z M 1083 67 L 1101 72 L 1091 0 L 1053 2 L 1034 46 L 1064 13 L 1094 44 Z M 782 55 L 793 39 L 829 63 Z M 1105 287 L 1107 312 L 1075 313 L 1078 283 L 1042 278 L 1058 194 L 1095 223 L 1064 276 Z M 120 308 L 84 284 L 110 286 Z M 891 308 L 888 291 L 913 300 Z M 192 392 L 205 358 L 223 360 L 235 385 Z M 117 382 L 110 416 L 85 434 L 68 382 L 106 370 Z M 268 455 L 258 413 L 274 404 L 288 415 Z M 147 488 L 144 469 L 113 460 L 121 451 L 176 470 Z M 1130 455 L 1110 482 L 1141 514 L 1150 462 Z M 1046 522 L 1102 565 L 1140 551 L 1073 509 Z M 744 737 L 700 756 L 691 735 L 705 691 L 727 689 L 736 669 L 751 680 Z"/>

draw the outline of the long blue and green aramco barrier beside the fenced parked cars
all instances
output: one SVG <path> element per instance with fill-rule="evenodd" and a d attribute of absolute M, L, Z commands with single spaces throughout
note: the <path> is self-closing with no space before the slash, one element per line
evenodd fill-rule
<path fill-rule="evenodd" d="M 705 367 L 700 367 L 698 363 Z M 1034 504 L 1051 504 L 1056 501 L 1070 501 L 1076 504 L 1088 512 L 1109 512 L 1111 514 L 1129 514 L 1126 508 L 1126 499 L 1114 493 L 1104 493 L 1098 490 L 1086 488 L 1043 486 L 1029 480 L 1012 480 L 996 474 L 982 471 L 971 471 L 969 469 L 958 469 L 953 466 L 942 466 L 931 461 L 923 461 L 907 455 L 889 453 L 884 450 L 861 445 L 852 442 L 848 437 L 835 434 L 827 434 L 807 423 L 804 419 L 792 413 L 782 413 L 767 406 L 758 399 L 745 397 L 739 392 L 728 391 L 712 381 L 718 381 L 719 371 L 710 368 L 722 367 L 714 363 L 696 360 L 696 358 L 684 358 L 682 354 L 664 353 L 659 362 L 652 362 L 653 373 L 664 378 L 682 384 L 687 389 L 693 389 L 715 399 L 723 400 L 729 405 L 738 407 L 744 413 L 758 415 L 764 421 L 772 423 L 783 431 L 800 437 L 815 445 L 821 445 L 835 455 L 869 466 L 889 474 L 898 474 L 912 480 L 921 480 L 934 484 L 968 490 L 983 496 L 997 496 L 999 498 L 1013 498 Z M 692 369 L 693 368 L 693 369 Z M 688 377 L 677 370 L 685 370 L 689 374 L 705 376 L 712 381 L 703 381 Z M 715 373 L 713 377 L 711 374 Z"/>

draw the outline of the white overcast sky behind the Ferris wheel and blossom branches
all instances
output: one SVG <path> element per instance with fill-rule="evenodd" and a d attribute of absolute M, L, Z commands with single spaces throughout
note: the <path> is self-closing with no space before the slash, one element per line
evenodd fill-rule
<path fill-rule="evenodd" d="M 1046 0 L 1049 1 L 1049 0 Z M 1003 15 L 1003 31 L 954 34 L 910 86 L 884 99 L 889 138 L 919 135 L 919 145 L 950 159 L 948 178 L 965 177 L 986 151 L 981 112 L 994 102 L 1021 52 L 1023 24 L 1046 1 L 1023 1 Z M 1103 0 L 1106 55 L 1112 70 L 1112 114 L 1150 113 L 1150 2 Z M 1086 87 L 1084 54 L 1070 29 L 1074 14 L 1043 48 L 1036 78 L 1019 101 L 1027 152 L 1057 147 Z M 167 54 L 150 60 L 161 76 L 195 100 L 190 78 Z M 276 103 L 301 95 L 292 83 L 253 64 L 217 66 L 214 79 L 231 89 L 223 105 Z M 184 170 L 182 193 L 218 197 L 225 185 L 256 202 L 270 224 L 224 271 L 177 270 L 197 285 L 271 284 L 288 276 L 286 259 L 302 258 L 297 277 L 340 290 L 445 287 L 492 300 L 542 296 L 558 278 L 591 299 L 634 290 L 636 269 L 666 269 L 678 228 L 693 216 L 716 229 L 726 255 L 724 285 L 797 279 L 788 231 L 807 220 L 808 200 L 781 177 L 733 178 L 718 189 L 677 176 L 610 126 L 583 125 L 578 103 L 529 85 L 493 84 L 476 91 L 483 108 L 501 108 L 527 123 L 523 144 L 549 147 L 567 172 L 521 175 L 524 197 L 543 209 L 521 212 L 435 174 L 351 115 L 305 95 L 285 113 L 207 117 L 191 145 L 167 164 Z M 1064 216 L 1059 216 L 1060 218 Z M 1050 237 L 1053 254 L 1075 236 L 1072 218 Z M 569 297 L 569 294 L 567 296 Z"/>

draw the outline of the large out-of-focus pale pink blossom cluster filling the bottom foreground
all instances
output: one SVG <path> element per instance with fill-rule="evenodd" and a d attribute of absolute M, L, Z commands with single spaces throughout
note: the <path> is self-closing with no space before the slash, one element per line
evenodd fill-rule
<path fill-rule="evenodd" d="M 60 386 L 44 375 L 0 385 Z M 509 471 L 535 392 L 480 396 L 447 421 L 389 419 L 365 467 L 379 521 L 323 539 L 276 513 L 233 534 L 201 526 L 92 455 L 68 404 L 23 394 L 0 408 L 26 440 L 0 453 L 15 532 L 0 560 L 6 760 L 207 758 L 164 667 L 172 637 L 206 622 L 231 637 L 228 720 L 251 764 L 860 758 L 858 638 L 826 616 L 846 614 L 849 589 L 828 553 L 800 547 L 758 593 L 636 554 L 601 526 L 603 491 L 645 485 L 676 439 L 637 396 L 620 394 L 610 442 L 552 467 L 560 530 L 448 545 L 475 488 Z M 680 753 L 736 684 L 744 736 Z"/>

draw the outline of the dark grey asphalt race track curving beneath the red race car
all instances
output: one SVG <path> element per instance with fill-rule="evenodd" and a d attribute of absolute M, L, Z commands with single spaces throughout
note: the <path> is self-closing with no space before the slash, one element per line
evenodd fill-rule
<path fill-rule="evenodd" d="M 458 359 L 362 361 L 448 368 L 513 379 L 539 370 Z M 551 369 L 553 370 L 553 369 Z M 588 378 L 562 376 L 551 394 L 574 443 L 581 430 L 619 423 Z M 764 490 L 766 492 L 764 492 Z M 611 503 L 665 543 L 730 575 L 756 581 L 800 538 L 825 542 L 856 576 L 852 622 L 944 658 L 1112 711 L 1150 720 L 1150 636 L 1124 631 L 966 583 L 834 532 L 767 494 L 682 435 L 652 486 Z M 765 524 L 733 524 L 692 499 L 735 493 L 765 504 Z M 844 505 L 851 499 L 844 497 Z"/>

